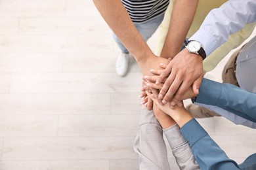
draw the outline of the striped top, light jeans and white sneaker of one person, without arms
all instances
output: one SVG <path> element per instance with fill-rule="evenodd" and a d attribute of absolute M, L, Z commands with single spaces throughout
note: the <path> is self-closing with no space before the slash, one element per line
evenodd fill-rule
<path fill-rule="evenodd" d="M 169 5 L 169 0 L 121 0 L 121 2 L 145 42 L 158 29 Z M 113 33 L 113 37 L 121 50 L 116 61 L 116 73 L 119 76 L 125 76 L 129 70 L 129 59 L 132 56 L 115 33 Z"/>

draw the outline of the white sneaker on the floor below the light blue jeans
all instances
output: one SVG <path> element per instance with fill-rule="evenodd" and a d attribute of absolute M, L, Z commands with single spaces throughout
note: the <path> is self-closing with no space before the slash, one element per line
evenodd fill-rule
<path fill-rule="evenodd" d="M 122 53 L 119 54 L 117 61 L 116 61 L 116 73 L 119 76 L 125 76 L 127 74 L 129 68 L 129 57 L 130 54 Z"/>

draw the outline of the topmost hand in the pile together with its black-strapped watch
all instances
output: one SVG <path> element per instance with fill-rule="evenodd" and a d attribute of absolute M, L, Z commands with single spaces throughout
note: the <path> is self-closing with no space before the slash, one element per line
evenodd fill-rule
<path fill-rule="evenodd" d="M 202 61 L 205 58 L 205 50 L 199 41 L 187 42 L 186 48 L 170 61 L 156 81 L 156 84 L 160 84 L 165 80 L 158 95 L 162 103 L 171 101 L 171 105 L 175 106 L 190 86 L 198 94 L 203 79 Z"/>

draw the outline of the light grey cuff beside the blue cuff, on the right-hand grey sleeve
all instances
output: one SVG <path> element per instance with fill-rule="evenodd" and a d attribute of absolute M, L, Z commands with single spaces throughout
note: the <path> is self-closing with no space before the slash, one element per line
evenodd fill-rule
<path fill-rule="evenodd" d="M 163 132 L 172 149 L 178 148 L 186 143 L 186 140 L 181 134 L 180 127 L 177 124 L 164 129 Z"/>

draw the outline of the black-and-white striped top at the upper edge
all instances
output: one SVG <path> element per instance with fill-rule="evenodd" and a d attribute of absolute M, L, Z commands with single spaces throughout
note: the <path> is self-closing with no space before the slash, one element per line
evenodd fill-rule
<path fill-rule="evenodd" d="M 163 14 L 169 0 L 121 0 L 133 23 L 146 22 Z"/>

